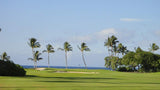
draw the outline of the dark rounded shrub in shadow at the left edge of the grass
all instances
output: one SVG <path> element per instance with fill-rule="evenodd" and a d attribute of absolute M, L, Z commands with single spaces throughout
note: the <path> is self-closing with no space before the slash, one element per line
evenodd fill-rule
<path fill-rule="evenodd" d="M 0 76 L 25 76 L 26 71 L 18 64 L 11 61 L 0 60 Z"/>

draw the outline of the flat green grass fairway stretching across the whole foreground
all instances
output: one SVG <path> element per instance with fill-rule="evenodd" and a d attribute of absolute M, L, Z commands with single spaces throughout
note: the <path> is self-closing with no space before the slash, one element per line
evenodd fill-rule
<path fill-rule="evenodd" d="M 0 90 L 159 90 L 160 73 L 26 69 L 25 77 L 0 76 Z M 72 73 L 55 71 L 70 71 Z M 74 73 L 83 72 L 83 73 Z M 84 73 L 88 72 L 88 73 Z M 90 73 L 89 73 L 90 72 Z M 94 72 L 96 74 L 94 74 Z"/>

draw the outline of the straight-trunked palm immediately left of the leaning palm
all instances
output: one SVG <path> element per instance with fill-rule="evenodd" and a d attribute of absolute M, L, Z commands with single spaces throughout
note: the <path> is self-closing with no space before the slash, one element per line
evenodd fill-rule
<path fill-rule="evenodd" d="M 58 50 L 65 51 L 66 69 L 67 69 L 67 52 L 72 51 L 72 47 L 68 42 L 65 42 L 63 48 L 58 48 Z"/>

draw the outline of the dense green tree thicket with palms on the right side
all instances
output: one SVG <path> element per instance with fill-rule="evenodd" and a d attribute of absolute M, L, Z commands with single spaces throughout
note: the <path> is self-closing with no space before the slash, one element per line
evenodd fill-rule
<path fill-rule="evenodd" d="M 104 46 L 108 48 L 108 56 L 105 57 L 107 68 L 127 72 L 160 71 L 160 55 L 154 54 L 159 47 L 155 43 L 149 48 L 150 51 L 143 51 L 140 47 L 135 48 L 135 51 L 129 51 L 119 43 L 117 37 L 111 36 L 105 41 Z M 122 54 L 122 58 L 119 54 Z"/>

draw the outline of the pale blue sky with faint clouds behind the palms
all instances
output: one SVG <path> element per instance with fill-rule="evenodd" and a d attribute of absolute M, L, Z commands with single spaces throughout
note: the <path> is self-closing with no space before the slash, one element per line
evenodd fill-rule
<path fill-rule="evenodd" d="M 104 41 L 115 35 L 131 51 L 140 46 L 148 51 L 150 44 L 160 46 L 160 0 L 0 0 L 0 54 L 7 52 L 20 65 L 33 65 L 32 51 L 27 42 L 34 37 L 42 52 L 52 44 L 51 66 L 65 66 L 63 43 L 69 66 L 84 66 L 77 48 L 86 42 L 89 67 L 104 67 L 108 55 Z M 160 50 L 155 53 L 160 54 Z M 47 54 L 38 65 L 47 66 Z"/>

